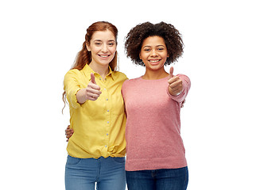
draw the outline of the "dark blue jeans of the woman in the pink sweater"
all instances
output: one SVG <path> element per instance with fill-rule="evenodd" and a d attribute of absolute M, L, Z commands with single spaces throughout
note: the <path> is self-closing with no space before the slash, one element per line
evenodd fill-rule
<path fill-rule="evenodd" d="M 128 190 L 185 190 L 188 186 L 188 167 L 126 171 Z"/>

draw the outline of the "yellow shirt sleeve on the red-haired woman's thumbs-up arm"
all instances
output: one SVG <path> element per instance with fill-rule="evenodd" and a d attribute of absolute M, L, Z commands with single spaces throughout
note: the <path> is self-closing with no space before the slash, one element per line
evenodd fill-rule
<path fill-rule="evenodd" d="M 76 93 L 80 89 L 79 70 L 68 70 L 68 73 L 64 76 L 64 91 L 67 94 L 69 105 L 73 108 L 81 106 L 76 99 Z"/>

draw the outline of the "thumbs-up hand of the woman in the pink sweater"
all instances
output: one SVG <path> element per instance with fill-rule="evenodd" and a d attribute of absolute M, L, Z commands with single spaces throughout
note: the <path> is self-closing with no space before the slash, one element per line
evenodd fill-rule
<path fill-rule="evenodd" d="M 170 68 L 169 74 L 169 93 L 173 96 L 179 95 L 183 90 L 182 80 L 178 77 L 173 75 L 173 67 Z"/>

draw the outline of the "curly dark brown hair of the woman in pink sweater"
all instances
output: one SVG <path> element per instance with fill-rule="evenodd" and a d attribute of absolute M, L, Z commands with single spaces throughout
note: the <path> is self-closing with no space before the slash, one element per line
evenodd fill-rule
<path fill-rule="evenodd" d="M 143 41 L 149 36 L 160 36 L 165 40 L 169 58 L 165 62 L 170 65 L 177 61 L 182 55 L 184 44 L 180 32 L 173 25 L 160 22 L 153 25 L 150 22 L 144 22 L 130 29 L 126 36 L 126 55 L 130 57 L 134 64 L 145 66 L 139 57 Z"/>

